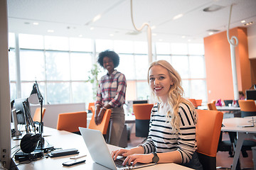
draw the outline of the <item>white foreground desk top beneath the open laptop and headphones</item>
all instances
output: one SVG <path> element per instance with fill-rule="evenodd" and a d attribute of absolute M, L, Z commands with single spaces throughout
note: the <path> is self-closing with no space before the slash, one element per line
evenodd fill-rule
<path fill-rule="evenodd" d="M 55 148 L 63 148 L 63 149 L 70 149 L 70 148 L 76 148 L 79 150 L 80 154 L 79 155 L 84 155 L 87 154 L 87 157 L 85 157 L 86 162 L 85 164 L 78 164 L 75 166 L 70 166 L 70 167 L 65 167 L 62 165 L 63 162 L 68 162 L 70 161 L 70 157 L 73 157 L 74 155 L 71 156 L 65 156 L 65 157 L 55 157 L 55 158 L 43 158 L 39 159 L 36 162 L 31 162 L 29 164 L 20 164 L 18 165 L 18 169 L 21 170 L 45 170 L 45 169 L 93 169 L 93 170 L 104 170 L 107 169 L 105 166 L 101 166 L 100 164 L 96 164 L 95 162 L 92 161 L 92 158 L 90 157 L 90 154 L 87 150 L 87 147 L 85 145 L 84 140 L 82 139 L 81 135 L 76 135 L 74 133 L 66 132 L 63 130 L 55 130 L 53 128 L 47 128 L 44 127 L 44 133 L 43 135 L 46 135 L 45 140 L 50 143 L 50 145 L 53 145 Z M 14 147 L 16 145 L 19 145 L 19 140 L 11 140 L 11 147 Z M 115 147 L 112 145 L 108 145 L 110 152 L 114 149 L 117 149 L 119 147 Z M 14 152 L 12 150 L 11 152 Z M 18 162 L 15 162 L 18 164 Z M 142 168 L 142 170 L 154 170 L 154 169 L 181 169 L 181 170 L 189 170 L 189 168 L 185 166 L 181 166 L 178 164 L 174 163 L 169 163 L 169 164 L 156 164 L 154 166 L 148 166 Z"/>

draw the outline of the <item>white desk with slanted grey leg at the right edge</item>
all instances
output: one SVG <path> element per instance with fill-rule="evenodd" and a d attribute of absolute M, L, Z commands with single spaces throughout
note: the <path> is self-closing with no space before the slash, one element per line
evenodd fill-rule
<path fill-rule="evenodd" d="M 250 118 L 227 118 L 223 119 L 223 125 L 221 128 L 225 132 L 238 132 L 238 142 L 235 147 L 235 156 L 233 159 L 232 169 L 235 169 L 238 164 L 238 158 L 242 148 L 242 142 L 245 138 L 253 138 L 256 134 L 256 127 L 242 128 L 241 125 L 252 125 L 252 119 Z"/>

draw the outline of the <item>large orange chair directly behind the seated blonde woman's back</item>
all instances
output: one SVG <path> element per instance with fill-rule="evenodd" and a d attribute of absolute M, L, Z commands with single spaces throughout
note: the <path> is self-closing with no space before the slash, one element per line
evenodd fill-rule
<path fill-rule="evenodd" d="M 216 154 L 223 121 L 223 113 L 220 111 L 198 110 L 196 124 L 196 141 L 199 161 L 203 169 L 216 169 Z"/>

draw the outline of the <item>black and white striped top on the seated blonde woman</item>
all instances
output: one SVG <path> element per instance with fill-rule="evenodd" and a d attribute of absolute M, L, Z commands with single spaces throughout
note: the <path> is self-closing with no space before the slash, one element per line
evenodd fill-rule
<path fill-rule="evenodd" d="M 156 103 L 151 111 L 149 123 L 149 137 L 141 146 L 144 153 L 151 152 L 171 152 L 181 153 L 182 163 L 190 162 L 193 153 L 196 151 L 196 114 L 192 113 L 188 105 L 181 103 L 178 114 L 181 117 L 179 132 L 176 135 L 171 128 L 171 123 L 167 122 L 166 115 L 159 113 L 159 103 Z"/>

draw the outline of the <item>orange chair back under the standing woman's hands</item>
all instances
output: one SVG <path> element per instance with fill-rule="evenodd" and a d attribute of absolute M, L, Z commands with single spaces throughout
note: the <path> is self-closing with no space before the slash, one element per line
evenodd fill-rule
<path fill-rule="evenodd" d="M 103 118 L 102 118 L 102 123 L 100 123 L 100 125 L 95 124 L 95 106 L 91 106 L 91 111 L 92 111 L 92 119 L 90 120 L 88 128 L 94 129 L 94 130 L 100 130 L 100 132 L 102 132 L 102 135 L 106 135 L 107 127 L 110 123 L 111 110 L 107 109 L 107 111 L 105 111 L 105 114 L 103 115 Z"/>

